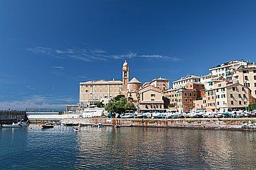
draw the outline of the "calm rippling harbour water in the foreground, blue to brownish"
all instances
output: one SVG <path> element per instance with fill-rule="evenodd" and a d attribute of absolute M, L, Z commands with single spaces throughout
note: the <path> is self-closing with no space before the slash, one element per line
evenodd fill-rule
<path fill-rule="evenodd" d="M 256 133 L 0 128 L 0 169 L 256 169 Z"/>

